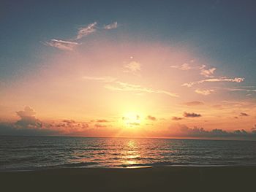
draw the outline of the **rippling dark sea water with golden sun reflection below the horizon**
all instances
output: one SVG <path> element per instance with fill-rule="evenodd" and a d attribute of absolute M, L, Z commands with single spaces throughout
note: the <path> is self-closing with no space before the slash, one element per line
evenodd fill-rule
<path fill-rule="evenodd" d="M 0 170 L 256 165 L 256 142 L 0 136 Z"/>

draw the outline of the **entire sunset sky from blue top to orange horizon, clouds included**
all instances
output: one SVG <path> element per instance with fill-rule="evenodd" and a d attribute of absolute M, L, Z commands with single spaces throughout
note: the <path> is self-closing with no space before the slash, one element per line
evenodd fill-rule
<path fill-rule="evenodd" d="M 256 139 L 255 1 L 1 1 L 0 134 Z"/>

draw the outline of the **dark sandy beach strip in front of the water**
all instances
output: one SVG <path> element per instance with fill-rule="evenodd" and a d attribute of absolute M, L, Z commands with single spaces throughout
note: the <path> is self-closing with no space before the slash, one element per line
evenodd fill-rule
<path fill-rule="evenodd" d="M 256 166 L 0 172 L 0 191 L 256 191 Z"/>

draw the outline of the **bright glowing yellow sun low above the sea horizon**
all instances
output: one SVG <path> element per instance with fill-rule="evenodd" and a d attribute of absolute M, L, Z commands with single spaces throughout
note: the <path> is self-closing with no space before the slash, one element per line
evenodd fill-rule
<path fill-rule="evenodd" d="M 141 115 L 136 112 L 127 112 L 121 118 L 121 123 L 126 127 L 138 127 L 142 123 Z"/>

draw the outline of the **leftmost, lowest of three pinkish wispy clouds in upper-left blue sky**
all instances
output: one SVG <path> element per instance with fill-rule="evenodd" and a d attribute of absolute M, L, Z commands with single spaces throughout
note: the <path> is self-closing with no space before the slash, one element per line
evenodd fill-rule
<path fill-rule="evenodd" d="M 75 47 L 80 45 L 78 42 L 68 42 L 57 39 L 51 39 L 50 42 L 44 42 L 44 44 L 50 47 L 56 47 L 60 50 L 74 50 Z"/>

